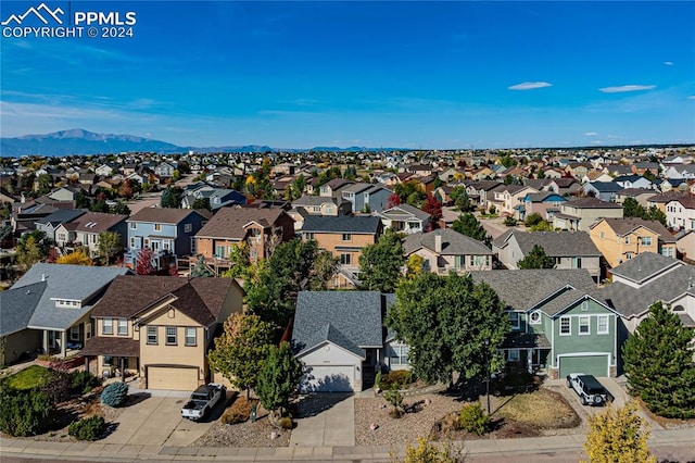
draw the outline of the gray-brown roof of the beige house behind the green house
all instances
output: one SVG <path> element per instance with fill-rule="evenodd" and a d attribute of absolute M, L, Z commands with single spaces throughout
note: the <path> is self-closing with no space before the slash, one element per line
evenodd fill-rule
<path fill-rule="evenodd" d="M 497 237 L 492 243 L 497 248 L 504 248 L 511 239 L 516 239 L 523 255 L 528 255 L 538 245 L 552 258 L 601 256 L 601 251 L 586 232 L 557 233 L 510 229 Z"/>

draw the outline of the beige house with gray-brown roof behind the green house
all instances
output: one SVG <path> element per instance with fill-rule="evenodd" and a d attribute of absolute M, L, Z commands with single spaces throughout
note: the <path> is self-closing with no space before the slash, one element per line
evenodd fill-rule
<path fill-rule="evenodd" d="M 601 277 L 601 251 L 586 232 L 521 232 L 511 228 L 494 241 L 492 252 L 507 268 L 518 268 L 534 246 L 555 261 L 555 268 L 585 268 L 596 281 Z"/>

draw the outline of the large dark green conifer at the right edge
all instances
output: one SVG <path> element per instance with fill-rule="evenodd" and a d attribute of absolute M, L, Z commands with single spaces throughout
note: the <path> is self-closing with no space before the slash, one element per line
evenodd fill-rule
<path fill-rule="evenodd" d="M 630 391 L 658 415 L 695 417 L 692 341 L 693 330 L 658 301 L 622 348 Z"/>

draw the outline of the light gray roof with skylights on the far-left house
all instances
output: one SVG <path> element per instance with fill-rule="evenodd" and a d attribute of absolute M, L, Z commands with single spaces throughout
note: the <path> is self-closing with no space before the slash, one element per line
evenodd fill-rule
<path fill-rule="evenodd" d="M 45 280 L 46 290 L 36 304 L 28 327 L 34 329 L 70 328 L 76 321 L 89 313 L 93 299 L 116 276 L 125 275 L 128 268 L 94 267 L 87 265 L 34 264 L 12 287 L 23 288 Z M 55 299 L 84 301 L 80 309 L 60 309 Z"/>

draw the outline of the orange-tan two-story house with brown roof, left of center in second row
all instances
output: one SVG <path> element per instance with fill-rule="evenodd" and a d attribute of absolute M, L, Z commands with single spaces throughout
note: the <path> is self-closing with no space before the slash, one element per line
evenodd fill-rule
<path fill-rule="evenodd" d="M 241 242 L 254 263 L 293 237 L 294 221 L 280 208 L 222 208 L 195 234 L 195 252 L 219 273 L 229 268 L 229 254 Z"/>

